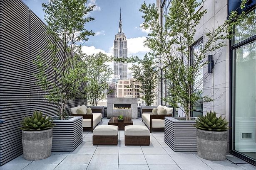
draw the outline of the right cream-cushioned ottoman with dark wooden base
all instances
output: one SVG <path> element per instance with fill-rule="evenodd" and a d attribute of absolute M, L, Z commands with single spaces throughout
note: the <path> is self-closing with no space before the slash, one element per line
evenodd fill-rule
<path fill-rule="evenodd" d="M 124 127 L 125 145 L 150 145 L 149 129 L 147 126 L 129 125 Z"/>

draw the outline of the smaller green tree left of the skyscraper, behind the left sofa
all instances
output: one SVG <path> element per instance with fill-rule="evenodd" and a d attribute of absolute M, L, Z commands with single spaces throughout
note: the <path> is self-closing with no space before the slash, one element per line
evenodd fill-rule
<path fill-rule="evenodd" d="M 97 106 L 98 102 L 106 97 L 107 82 L 112 75 L 112 69 L 105 62 L 109 61 L 107 55 L 103 53 L 93 54 L 91 62 L 87 69 L 87 85 L 85 93 L 87 94 L 87 102 L 92 106 Z"/>

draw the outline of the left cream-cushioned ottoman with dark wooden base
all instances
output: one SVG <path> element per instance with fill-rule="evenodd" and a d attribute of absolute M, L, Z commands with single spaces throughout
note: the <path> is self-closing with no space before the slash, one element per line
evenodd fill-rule
<path fill-rule="evenodd" d="M 93 130 L 93 145 L 117 145 L 118 126 L 100 125 Z"/>

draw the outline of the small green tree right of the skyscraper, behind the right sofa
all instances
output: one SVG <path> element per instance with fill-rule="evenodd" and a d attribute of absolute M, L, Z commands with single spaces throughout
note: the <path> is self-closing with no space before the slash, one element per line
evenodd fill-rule
<path fill-rule="evenodd" d="M 142 99 L 146 102 L 147 106 L 151 106 L 157 96 L 158 71 L 154 65 L 154 57 L 146 54 L 142 60 L 138 60 L 137 65 L 132 65 L 131 70 L 133 71 L 134 78 L 142 84 L 139 89 L 139 92 L 142 93 Z"/>

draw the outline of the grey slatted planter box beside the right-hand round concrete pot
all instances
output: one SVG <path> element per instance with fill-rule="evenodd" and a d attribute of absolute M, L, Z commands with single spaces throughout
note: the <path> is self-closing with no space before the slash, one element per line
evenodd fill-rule
<path fill-rule="evenodd" d="M 181 120 L 184 117 L 165 117 L 164 119 L 164 141 L 174 151 L 197 151 L 196 146 L 196 124 L 192 120 Z"/>

